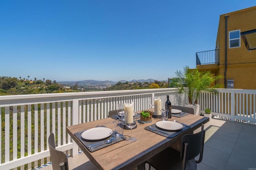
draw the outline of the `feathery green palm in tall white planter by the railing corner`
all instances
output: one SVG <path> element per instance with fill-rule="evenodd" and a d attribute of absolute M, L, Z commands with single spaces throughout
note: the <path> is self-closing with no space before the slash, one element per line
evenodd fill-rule
<path fill-rule="evenodd" d="M 218 94 L 216 88 L 222 88 L 222 85 L 212 85 L 216 80 L 222 78 L 222 76 L 213 76 L 210 71 L 200 72 L 197 69 L 190 69 L 188 66 L 184 66 L 183 72 L 175 72 L 178 80 L 175 86 L 179 88 L 179 94 L 186 93 L 188 95 L 187 107 L 194 109 L 194 114 L 199 115 L 198 98 L 201 92 L 210 92 L 212 94 Z"/>

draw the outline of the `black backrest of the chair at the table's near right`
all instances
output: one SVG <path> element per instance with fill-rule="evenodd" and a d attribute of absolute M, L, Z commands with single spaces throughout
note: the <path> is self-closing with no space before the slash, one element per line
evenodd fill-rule
<path fill-rule="evenodd" d="M 202 124 L 200 132 L 184 135 L 181 138 L 180 158 L 182 160 L 184 159 L 184 154 L 186 154 L 185 155 L 186 160 L 194 159 L 196 156 L 198 156 L 198 154 L 200 154 L 200 159 L 202 159 L 201 154 L 204 149 L 204 135 L 205 135 L 204 124 Z"/>

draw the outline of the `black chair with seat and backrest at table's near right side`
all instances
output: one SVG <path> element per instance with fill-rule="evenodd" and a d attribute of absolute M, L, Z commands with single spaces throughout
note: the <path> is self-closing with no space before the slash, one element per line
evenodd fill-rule
<path fill-rule="evenodd" d="M 148 159 L 146 163 L 157 170 L 196 170 L 197 163 L 200 163 L 203 158 L 204 136 L 205 130 L 204 124 L 202 124 L 200 132 L 182 137 L 180 152 L 168 147 Z M 199 154 L 199 159 L 195 160 L 194 158 Z"/>

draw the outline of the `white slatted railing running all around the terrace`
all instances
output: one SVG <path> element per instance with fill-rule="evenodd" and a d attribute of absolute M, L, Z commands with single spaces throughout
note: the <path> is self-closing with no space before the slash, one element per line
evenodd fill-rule
<path fill-rule="evenodd" d="M 50 162 L 51 132 L 59 150 L 76 156 L 79 149 L 66 126 L 106 118 L 118 103 L 134 102 L 135 110 L 147 109 L 150 97 L 165 101 L 166 95 L 172 105 L 187 102 L 176 88 L 0 96 L 0 169 L 33 169 Z M 217 96 L 200 95 L 200 112 L 211 108 L 222 119 L 255 123 L 255 101 L 256 90 L 219 89 Z"/>

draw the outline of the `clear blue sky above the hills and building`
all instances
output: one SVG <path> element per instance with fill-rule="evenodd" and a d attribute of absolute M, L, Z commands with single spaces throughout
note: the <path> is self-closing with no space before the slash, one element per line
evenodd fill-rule
<path fill-rule="evenodd" d="M 0 0 L 0 76 L 167 80 L 255 0 Z"/>

